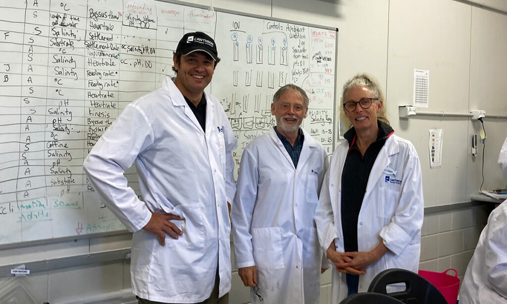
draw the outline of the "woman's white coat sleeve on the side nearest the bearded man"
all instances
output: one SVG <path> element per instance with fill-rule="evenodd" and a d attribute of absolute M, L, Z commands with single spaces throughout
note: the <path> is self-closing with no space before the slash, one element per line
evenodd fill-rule
<path fill-rule="evenodd" d="M 329 175 L 331 169 L 324 175 L 322 187 L 320 188 L 320 195 L 318 199 L 317 208 L 315 209 L 315 224 L 317 226 L 317 235 L 320 246 L 327 252 L 329 245 L 333 242 L 338 235 L 336 234 L 335 218 L 333 214 L 333 207 L 331 206 L 331 195 L 329 188 Z"/>

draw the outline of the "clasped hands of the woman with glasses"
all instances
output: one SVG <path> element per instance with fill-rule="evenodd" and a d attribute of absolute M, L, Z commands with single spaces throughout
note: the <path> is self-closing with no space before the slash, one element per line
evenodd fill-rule
<path fill-rule="evenodd" d="M 383 242 L 368 252 L 337 252 L 335 242 L 331 242 L 326 255 L 335 264 L 336 270 L 343 274 L 364 275 L 365 268 L 378 261 L 388 251 Z"/>

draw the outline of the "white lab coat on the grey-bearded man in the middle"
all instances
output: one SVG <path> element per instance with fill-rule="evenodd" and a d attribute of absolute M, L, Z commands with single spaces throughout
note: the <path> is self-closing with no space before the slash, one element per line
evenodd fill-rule
<path fill-rule="evenodd" d="M 319 303 L 322 251 L 313 215 L 328 156 L 303 133 L 297 168 L 273 128 L 241 157 L 231 212 L 236 266 L 256 265 L 263 303 Z"/>

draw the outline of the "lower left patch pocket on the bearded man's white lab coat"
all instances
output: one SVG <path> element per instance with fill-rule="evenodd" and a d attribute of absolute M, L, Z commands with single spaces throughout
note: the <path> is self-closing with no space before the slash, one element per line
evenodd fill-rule
<path fill-rule="evenodd" d="M 259 269 L 285 267 L 280 227 L 252 228 L 253 259 Z"/>

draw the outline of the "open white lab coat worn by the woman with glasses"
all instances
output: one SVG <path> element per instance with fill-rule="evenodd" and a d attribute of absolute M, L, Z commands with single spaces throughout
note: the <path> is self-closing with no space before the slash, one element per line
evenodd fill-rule
<path fill-rule="evenodd" d="M 341 142 L 333 153 L 315 211 L 320 245 L 326 250 L 335 240 L 344 252 L 341 185 L 349 143 Z M 373 278 L 385 269 L 402 268 L 417 273 L 421 249 L 424 203 L 421 167 L 412 143 L 389 136 L 373 165 L 357 222 L 358 251 L 370 251 L 380 241 L 390 250 L 359 277 L 358 292 L 368 290 Z M 332 303 L 347 296 L 345 275 L 333 268 Z"/>

